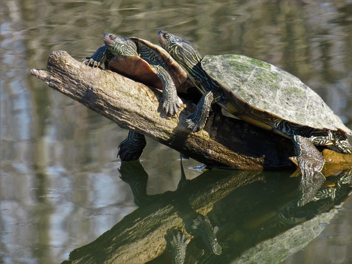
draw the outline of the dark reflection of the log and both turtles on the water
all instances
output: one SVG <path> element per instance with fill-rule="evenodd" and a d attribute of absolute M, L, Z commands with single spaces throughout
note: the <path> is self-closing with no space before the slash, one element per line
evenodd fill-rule
<path fill-rule="evenodd" d="M 317 237 L 352 190 L 352 168 L 303 206 L 305 190 L 289 172 L 210 169 L 187 180 L 182 160 L 181 171 L 176 191 L 148 195 L 142 164 L 122 162 L 139 208 L 63 263 L 171 263 L 175 254 L 186 263 L 278 263 Z"/>

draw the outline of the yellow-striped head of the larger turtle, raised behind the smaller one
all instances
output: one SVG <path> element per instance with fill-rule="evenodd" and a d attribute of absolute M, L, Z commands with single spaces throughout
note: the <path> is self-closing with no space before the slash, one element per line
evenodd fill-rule
<path fill-rule="evenodd" d="M 192 69 L 202 60 L 198 49 L 188 40 L 162 30 L 158 33 L 158 39 L 161 47 L 187 69 Z"/>

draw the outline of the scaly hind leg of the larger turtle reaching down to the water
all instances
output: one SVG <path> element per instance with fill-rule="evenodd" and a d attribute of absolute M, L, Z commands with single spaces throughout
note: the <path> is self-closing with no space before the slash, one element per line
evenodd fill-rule
<path fill-rule="evenodd" d="M 302 172 L 301 184 L 312 185 L 316 179 L 323 177 L 321 170 L 325 162 L 324 157 L 309 138 L 292 135 L 292 141 L 297 154 L 298 166 Z"/>

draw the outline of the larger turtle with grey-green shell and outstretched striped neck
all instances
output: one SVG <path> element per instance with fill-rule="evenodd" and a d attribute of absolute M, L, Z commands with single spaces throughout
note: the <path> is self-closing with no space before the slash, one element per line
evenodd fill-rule
<path fill-rule="evenodd" d="M 252 125 L 291 138 L 307 185 L 322 178 L 324 158 L 315 145 L 352 154 L 346 137 L 352 131 L 296 76 L 243 55 L 202 58 L 191 42 L 165 31 L 159 31 L 158 39 L 201 84 L 204 95 L 186 120 L 193 132 L 204 127 L 211 104 L 218 103 Z"/>

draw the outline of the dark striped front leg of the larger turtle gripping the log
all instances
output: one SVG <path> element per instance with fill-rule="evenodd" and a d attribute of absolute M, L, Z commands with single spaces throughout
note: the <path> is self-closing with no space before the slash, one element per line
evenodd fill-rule
<path fill-rule="evenodd" d="M 214 92 L 208 91 L 198 102 L 196 111 L 187 117 L 187 128 L 191 129 L 194 133 L 201 130 L 207 122 L 212 103 L 214 103 Z"/>

